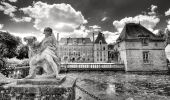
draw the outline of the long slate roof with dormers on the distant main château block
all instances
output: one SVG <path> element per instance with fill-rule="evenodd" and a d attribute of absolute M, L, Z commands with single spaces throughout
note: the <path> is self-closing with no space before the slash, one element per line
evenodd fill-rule
<path fill-rule="evenodd" d="M 89 44 L 92 43 L 92 41 L 90 40 L 90 38 L 61 38 L 61 40 L 59 41 L 60 43 L 65 43 L 65 44 L 74 44 L 74 42 L 76 42 L 77 44 Z"/>

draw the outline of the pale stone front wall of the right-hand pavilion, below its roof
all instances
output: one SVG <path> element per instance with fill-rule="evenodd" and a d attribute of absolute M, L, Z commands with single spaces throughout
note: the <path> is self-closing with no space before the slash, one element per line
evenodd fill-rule
<path fill-rule="evenodd" d="M 163 42 L 149 42 L 142 46 L 141 42 L 126 42 L 126 71 L 160 71 L 167 70 L 165 45 Z M 149 52 L 149 62 L 143 62 L 143 51 Z"/>

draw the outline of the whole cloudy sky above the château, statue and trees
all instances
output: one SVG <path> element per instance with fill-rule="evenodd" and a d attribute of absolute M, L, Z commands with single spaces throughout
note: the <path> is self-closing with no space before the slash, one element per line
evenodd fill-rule
<path fill-rule="evenodd" d="M 43 38 L 44 27 L 61 37 L 91 37 L 101 31 L 116 40 L 125 23 L 153 33 L 170 30 L 170 0 L 1 0 L 0 30 Z"/>

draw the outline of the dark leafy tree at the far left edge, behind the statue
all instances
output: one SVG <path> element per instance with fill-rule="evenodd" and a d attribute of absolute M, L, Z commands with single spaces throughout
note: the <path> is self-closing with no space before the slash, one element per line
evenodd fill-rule
<path fill-rule="evenodd" d="M 16 48 L 21 43 L 19 37 L 15 37 L 8 32 L 0 32 L 0 71 L 8 75 L 7 65 L 4 58 L 17 56 Z"/>

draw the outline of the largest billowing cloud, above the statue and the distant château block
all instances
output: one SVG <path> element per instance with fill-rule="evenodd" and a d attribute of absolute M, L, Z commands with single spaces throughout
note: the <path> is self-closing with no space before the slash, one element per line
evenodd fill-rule
<path fill-rule="evenodd" d="M 50 5 L 39 1 L 20 10 L 35 19 L 34 27 L 38 30 L 48 26 L 57 32 L 74 32 L 77 27 L 87 23 L 80 11 L 65 3 Z"/>

